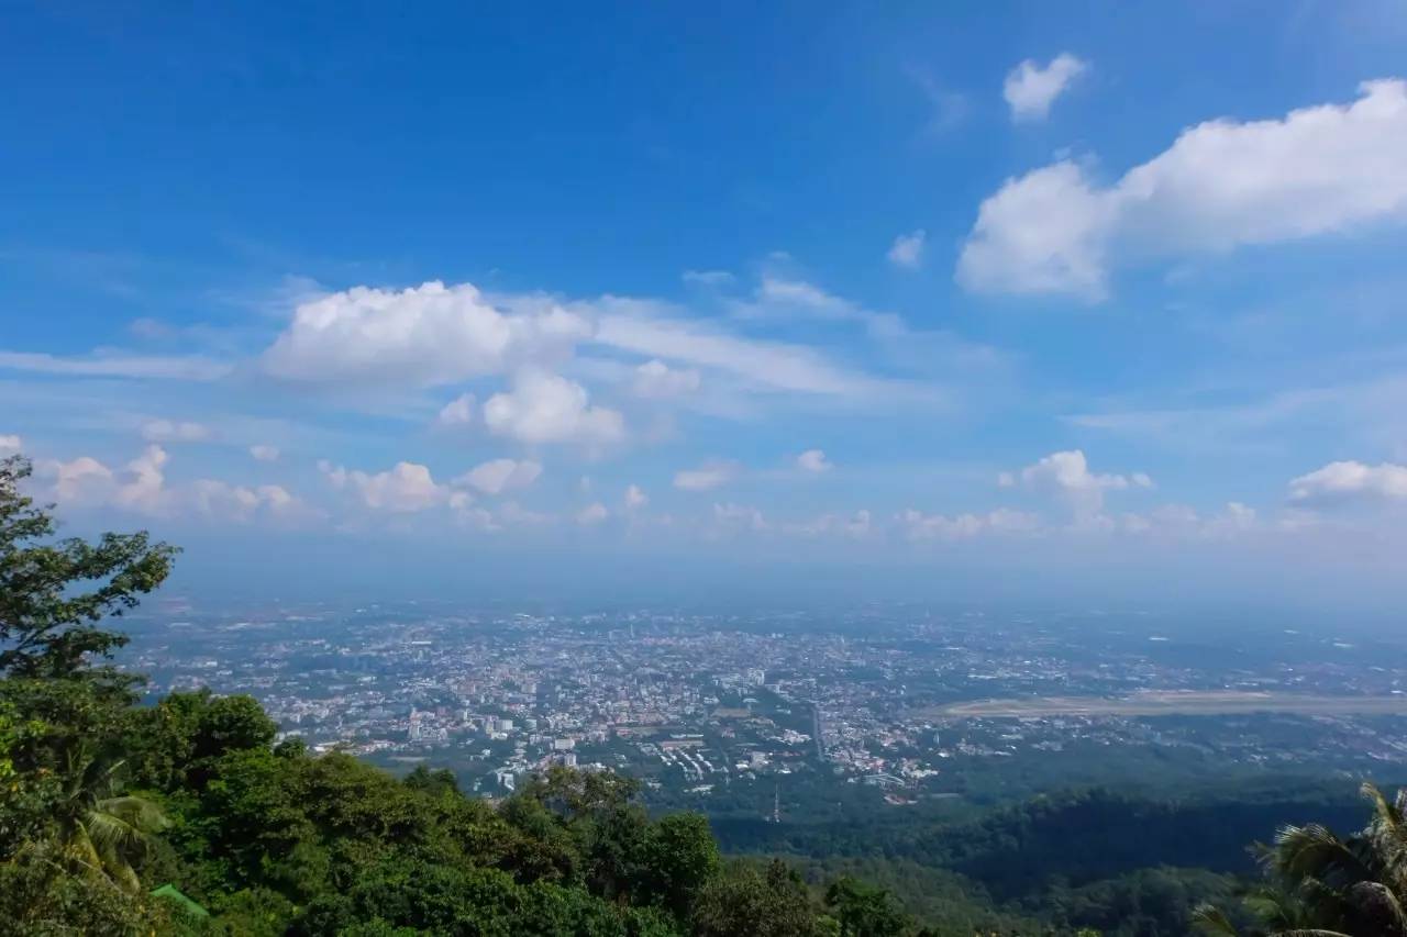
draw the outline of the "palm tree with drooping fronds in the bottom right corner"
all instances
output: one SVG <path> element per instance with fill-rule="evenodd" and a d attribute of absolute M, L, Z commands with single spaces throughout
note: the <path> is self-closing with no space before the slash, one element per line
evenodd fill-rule
<path fill-rule="evenodd" d="M 1407 937 L 1407 789 L 1396 802 L 1372 784 L 1362 793 L 1373 816 L 1361 833 L 1286 826 L 1261 848 L 1266 885 L 1245 905 L 1273 937 Z M 1216 907 L 1199 907 L 1196 920 L 1209 934 L 1237 934 Z"/>

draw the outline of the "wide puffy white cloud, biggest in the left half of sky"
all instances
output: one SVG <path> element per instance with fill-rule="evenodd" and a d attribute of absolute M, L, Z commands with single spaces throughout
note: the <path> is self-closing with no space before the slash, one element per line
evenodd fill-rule
<path fill-rule="evenodd" d="M 301 302 L 263 366 L 287 380 L 433 387 L 550 360 L 590 333 L 550 302 L 501 312 L 469 283 L 355 287 Z"/>

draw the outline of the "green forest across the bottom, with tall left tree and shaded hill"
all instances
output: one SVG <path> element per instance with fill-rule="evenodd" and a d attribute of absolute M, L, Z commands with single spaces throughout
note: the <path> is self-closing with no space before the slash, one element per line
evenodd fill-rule
<path fill-rule="evenodd" d="M 1370 786 L 711 826 L 609 772 L 490 802 L 276 741 L 249 696 L 144 701 L 110 656 L 177 552 L 56 539 L 28 473 L 0 463 L 0 934 L 1407 937 L 1407 803 Z"/>

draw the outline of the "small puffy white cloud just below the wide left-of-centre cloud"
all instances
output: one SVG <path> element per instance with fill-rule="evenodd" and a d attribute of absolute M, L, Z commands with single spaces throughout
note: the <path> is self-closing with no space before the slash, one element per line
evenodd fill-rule
<path fill-rule="evenodd" d="M 528 445 L 602 446 L 625 439 L 618 411 L 591 407 L 581 384 L 536 369 L 519 371 L 511 393 L 484 404 L 484 425 L 498 436 Z"/>

